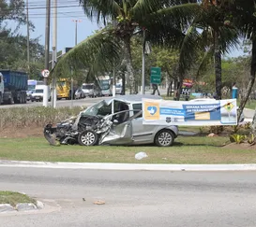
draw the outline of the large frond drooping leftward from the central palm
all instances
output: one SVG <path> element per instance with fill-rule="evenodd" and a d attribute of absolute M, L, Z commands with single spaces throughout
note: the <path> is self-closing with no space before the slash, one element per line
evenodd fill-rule
<path fill-rule="evenodd" d="M 79 69 L 104 72 L 119 59 L 121 47 L 113 30 L 101 30 L 69 50 L 56 64 L 53 73 L 56 77 L 65 77 L 65 73 Z"/>

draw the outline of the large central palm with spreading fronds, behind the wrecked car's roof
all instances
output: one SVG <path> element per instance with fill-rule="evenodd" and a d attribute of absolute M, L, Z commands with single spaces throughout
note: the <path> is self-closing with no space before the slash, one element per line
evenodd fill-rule
<path fill-rule="evenodd" d="M 123 57 L 126 66 L 130 93 L 135 92 L 130 40 L 146 29 L 146 39 L 156 44 L 178 46 L 185 37 L 196 0 L 81 0 L 85 15 L 107 25 L 95 35 L 85 39 L 68 51 L 56 65 L 59 70 L 65 65 L 93 67 L 95 71 L 108 70 L 113 62 Z M 114 23 L 113 23 L 114 22 Z"/>

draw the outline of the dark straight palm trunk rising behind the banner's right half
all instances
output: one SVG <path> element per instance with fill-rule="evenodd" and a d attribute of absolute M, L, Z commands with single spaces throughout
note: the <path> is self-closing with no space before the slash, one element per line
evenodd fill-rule
<path fill-rule="evenodd" d="M 221 79 L 221 51 L 219 45 L 218 31 L 214 31 L 214 59 L 215 59 L 215 87 L 216 87 L 216 99 L 221 99 L 221 88 L 222 88 L 222 79 Z"/>

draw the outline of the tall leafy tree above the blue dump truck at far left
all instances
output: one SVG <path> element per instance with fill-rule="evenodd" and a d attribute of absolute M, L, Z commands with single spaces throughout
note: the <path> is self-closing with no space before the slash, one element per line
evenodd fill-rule
<path fill-rule="evenodd" d="M 17 27 L 7 28 L 7 21 L 15 21 Z M 19 33 L 21 25 L 26 23 L 23 0 L 0 0 L 0 67 L 13 70 L 27 70 L 27 37 Z M 30 29 L 34 25 L 29 22 Z M 38 78 L 43 67 L 44 50 L 38 38 L 30 39 L 31 78 Z"/>

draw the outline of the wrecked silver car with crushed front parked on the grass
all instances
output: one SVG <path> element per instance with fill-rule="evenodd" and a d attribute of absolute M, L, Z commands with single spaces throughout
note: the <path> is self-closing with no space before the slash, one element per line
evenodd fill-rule
<path fill-rule="evenodd" d="M 173 145 L 178 127 L 143 124 L 143 98 L 161 99 L 157 95 L 124 95 L 102 100 L 83 110 L 79 116 L 53 126 L 46 125 L 44 136 L 50 144 Z"/>

